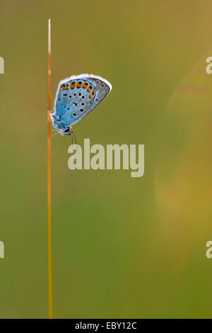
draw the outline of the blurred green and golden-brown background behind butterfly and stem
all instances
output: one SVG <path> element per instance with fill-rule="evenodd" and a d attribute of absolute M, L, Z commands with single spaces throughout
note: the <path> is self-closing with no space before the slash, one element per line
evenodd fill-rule
<path fill-rule="evenodd" d="M 211 317 L 212 1 L 1 1 L 0 317 L 47 317 L 47 20 L 59 80 L 110 96 L 78 143 L 145 144 L 145 174 L 68 169 L 52 139 L 54 317 Z M 209 52 L 209 54 L 208 54 Z"/>

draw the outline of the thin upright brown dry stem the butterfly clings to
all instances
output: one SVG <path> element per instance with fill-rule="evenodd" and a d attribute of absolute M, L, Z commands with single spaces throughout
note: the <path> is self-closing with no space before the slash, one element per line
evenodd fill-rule
<path fill-rule="evenodd" d="M 48 205 L 48 293 L 49 319 L 53 318 L 52 303 L 52 221 L 51 221 L 51 20 L 48 26 L 48 123 L 47 123 L 47 205 Z"/>

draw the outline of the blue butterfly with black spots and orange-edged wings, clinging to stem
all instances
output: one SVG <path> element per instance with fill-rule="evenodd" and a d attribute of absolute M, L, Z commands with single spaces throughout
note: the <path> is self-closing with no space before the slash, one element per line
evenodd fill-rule
<path fill-rule="evenodd" d="M 72 135 L 72 125 L 85 118 L 110 93 L 112 85 L 93 74 L 73 75 L 59 82 L 50 118 L 54 135 Z"/>

